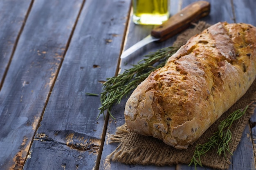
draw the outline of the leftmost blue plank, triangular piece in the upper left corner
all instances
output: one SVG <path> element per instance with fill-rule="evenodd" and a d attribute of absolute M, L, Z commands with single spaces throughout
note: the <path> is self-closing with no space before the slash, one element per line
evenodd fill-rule
<path fill-rule="evenodd" d="M 30 4 L 31 0 L 0 1 L 0 89 Z"/>

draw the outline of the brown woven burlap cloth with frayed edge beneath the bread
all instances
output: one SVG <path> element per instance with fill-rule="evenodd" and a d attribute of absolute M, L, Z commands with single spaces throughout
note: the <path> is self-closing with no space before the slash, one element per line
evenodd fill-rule
<path fill-rule="evenodd" d="M 199 22 L 193 29 L 184 31 L 177 37 L 174 46 L 180 46 L 184 44 L 191 36 L 200 33 L 205 28 L 209 27 L 209 24 L 205 22 Z M 236 92 L 234 92 L 236 93 Z M 227 118 L 230 113 L 235 110 L 243 109 L 247 104 L 252 101 L 256 101 L 256 81 L 249 88 L 247 93 L 236 102 L 227 112 L 221 117 L 220 121 Z M 252 104 L 247 109 L 247 112 L 243 117 L 235 121 L 234 126 L 231 127 L 232 139 L 229 144 L 231 153 L 233 153 L 242 137 L 243 130 L 249 121 L 249 118 L 254 113 L 255 104 Z M 164 144 L 161 140 L 154 137 L 148 137 L 138 135 L 134 132 L 129 132 L 126 124 L 117 128 L 116 134 L 110 138 L 111 142 L 120 143 L 119 146 L 108 155 L 108 159 L 111 161 L 118 161 L 125 164 L 141 164 L 141 165 L 155 165 L 155 166 L 172 166 L 177 163 L 189 164 L 195 146 L 197 144 L 204 144 L 208 141 L 208 138 L 213 135 L 213 132 L 218 130 L 218 124 L 220 121 L 216 121 L 193 145 L 189 146 L 186 150 L 177 150 L 171 146 Z M 203 166 L 216 169 L 228 169 L 230 165 L 231 155 L 228 154 L 227 159 L 223 155 L 217 154 L 217 148 L 207 152 L 205 156 L 201 156 Z"/>

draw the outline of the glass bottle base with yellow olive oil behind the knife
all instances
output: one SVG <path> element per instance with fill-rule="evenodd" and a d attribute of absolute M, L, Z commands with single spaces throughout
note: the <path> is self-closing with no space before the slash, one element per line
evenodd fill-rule
<path fill-rule="evenodd" d="M 135 24 L 160 25 L 169 18 L 169 0 L 132 0 Z"/>

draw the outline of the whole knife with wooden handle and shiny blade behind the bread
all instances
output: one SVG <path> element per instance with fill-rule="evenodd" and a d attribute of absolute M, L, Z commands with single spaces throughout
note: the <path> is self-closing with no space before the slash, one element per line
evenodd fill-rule
<path fill-rule="evenodd" d="M 162 25 L 155 27 L 151 34 L 143 40 L 137 42 L 129 49 L 121 54 L 121 58 L 128 57 L 131 53 L 138 50 L 142 46 L 150 42 L 162 42 L 171 38 L 177 33 L 187 29 L 191 22 L 197 22 L 200 18 L 209 15 L 211 5 L 207 1 L 198 1 L 189 4 L 187 7 L 182 9 L 179 13 L 176 13 L 169 18 Z"/>

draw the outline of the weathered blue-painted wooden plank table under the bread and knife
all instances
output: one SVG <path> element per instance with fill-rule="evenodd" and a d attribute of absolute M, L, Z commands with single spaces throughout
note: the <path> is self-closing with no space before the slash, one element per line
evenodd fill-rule
<path fill-rule="evenodd" d="M 195 0 L 171 0 L 171 15 Z M 254 0 L 208 0 L 202 19 L 256 26 Z M 153 26 L 130 21 L 131 0 L 0 1 L 0 170 L 192 170 L 109 162 L 125 99 L 100 116 L 102 82 L 143 55 L 171 46 L 151 43 L 125 60 L 119 56 Z M 230 170 L 255 170 L 254 114 L 232 157 Z M 209 168 L 198 168 L 209 170 Z"/>

